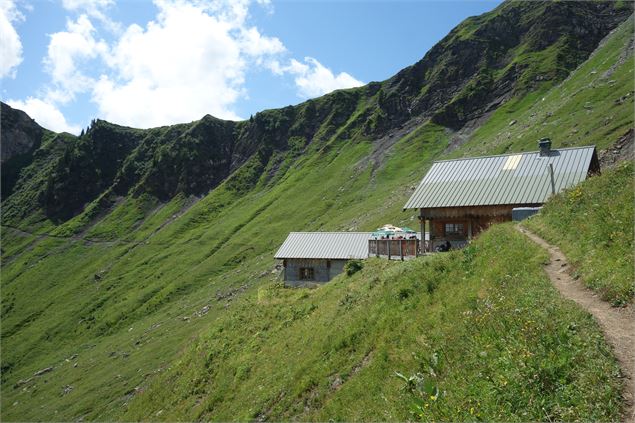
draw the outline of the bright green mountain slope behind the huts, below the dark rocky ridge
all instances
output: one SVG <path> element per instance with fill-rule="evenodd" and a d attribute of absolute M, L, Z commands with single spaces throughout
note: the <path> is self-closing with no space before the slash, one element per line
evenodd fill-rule
<path fill-rule="evenodd" d="M 609 67 L 630 34 L 632 27 L 623 27 L 613 38 L 616 44 L 607 43 L 592 60 Z M 614 84 L 632 84 L 632 69 L 632 60 L 626 60 L 615 70 Z M 547 92 L 540 106 L 552 107 L 552 118 L 565 119 L 570 111 L 560 106 L 566 99 L 559 93 L 586 87 L 587 75 L 576 72 Z M 598 97 L 595 110 L 611 109 L 615 96 Z M 495 136 L 484 134 L 496 134 L 501 122 L 507 125 L 512 106 L 523 116 L 538 107 L 530 96 L 509 102 L 452 154 L 506 150 Z M 602 119 L 590 113 L 580 124 L 590 125 L 589 133 L 599 139 Z M 534 149 L 538 134 L 533 127 L 523 131 L 521 123 L 510 127 L 520 138 L 509 148 Z M 605 136 L 598 144 L 611 141 Z M 443 128 L 423 124 L 374 168 L 369 141 L 334 137 L 292 163 L 275 185 L 263 179 L 252 190 L 237 192 L 230 180 L 187 211 L 188 199 L 182 197 L 150 213 L 143 198 L 126 198 L 84 234 L 108 243 L 36 239 L 3 230 L 3 420 L 116 418 L 135 387 L 170 367 L 194 335 L 233 315 L 234 298 L 255 295 L 289 231 L 414 224 L 414 216 L 401 207 L 410 187 L 442 156 L 448 138 Z M 558 145 L 558 137 L 554 141 Z M 571 145 L 587 143 L 571 140 Z M 115 213 L 124 218 L 114 219 Z M 205 305 L 207 314 L 195 314 Z M 66 362 L 73 354 L 77 359 Z M 48 366 L 55 369 L 14 387 Z M 65 386 L 73 389 L 64 394 Z"/>

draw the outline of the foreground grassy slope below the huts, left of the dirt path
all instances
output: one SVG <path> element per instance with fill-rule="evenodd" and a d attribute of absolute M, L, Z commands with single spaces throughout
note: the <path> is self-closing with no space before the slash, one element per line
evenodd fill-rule
<path fill-rule="evenodd" d="M 265 283 L 125 419 L 403 421 L 414 405 L 424 420 L 615 420 L 610 349 L 544 260 L 504 225 L 464 251 L 371 259 L 316 290 Z M 423 382 L 409 393 L 396 371 Z"/>

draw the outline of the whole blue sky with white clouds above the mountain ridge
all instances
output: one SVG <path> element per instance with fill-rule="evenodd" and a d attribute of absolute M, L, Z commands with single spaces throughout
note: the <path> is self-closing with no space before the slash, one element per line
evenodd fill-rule
<path fill-rule="evenodd" d="M 245 119 L 387 79 L 499 3 L 0 0 L 0 93 L 73 133 Z"/>

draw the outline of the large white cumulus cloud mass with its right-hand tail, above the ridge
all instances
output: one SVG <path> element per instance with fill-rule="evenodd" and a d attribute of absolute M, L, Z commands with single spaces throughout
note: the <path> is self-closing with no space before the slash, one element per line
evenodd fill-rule
<path fill-rule="evenodd" d="M 154 0 L 154 20 L 123 28 L 108 17 L 114 0 L 62 0 L 74 17 L 49 36 L 43 63 L 50 83 L 37 98 L 13 104 L 45 127 L 77 132 L 59 107 L 87 94 L 100 117 L 148 128 L 207 113 L 241 119 L 235 105 L 247 98 L 252 69 L 293 78 L 300 97 L 362 84 L 311 57 L 288 60 L 278 38 L 249 24 L 253 2 L 273 10 L 269 0 Z"/>

